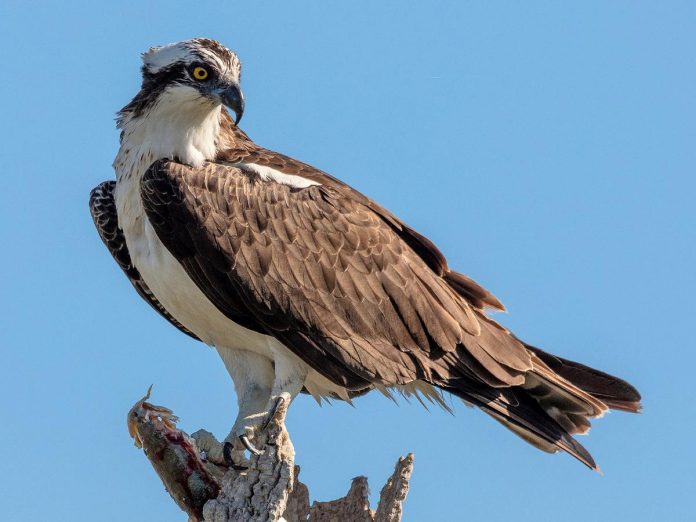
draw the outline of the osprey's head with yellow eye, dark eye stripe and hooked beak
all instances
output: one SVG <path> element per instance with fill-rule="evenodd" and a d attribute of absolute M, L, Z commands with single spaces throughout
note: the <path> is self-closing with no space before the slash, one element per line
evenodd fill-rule
<path fill-rule="evenodd" d="M 137 117 L 158 105 L 177 111 L 225 105 L 236 123 L 242 118 L 239 58 L 215 40 L 194 38 L 153 47 L 142 58 L 142 87 L 121 117 Z"/>

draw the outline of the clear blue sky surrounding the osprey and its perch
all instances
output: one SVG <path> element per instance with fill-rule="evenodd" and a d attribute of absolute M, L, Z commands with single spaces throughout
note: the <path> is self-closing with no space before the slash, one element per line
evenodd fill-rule
<path fill-rule="evenodd" d="M 217 355 L 141 302 L 87 208 L 139 53 L 208 36 L 242 59 L 257 142 L 377 199 L 518 335 L 645 398 L 582 438 L 600 476 L 463 405 L 301 397 L 288 422 L 314 498 L 358 474 L 376 493 L 413 451 L 406 521 L 695 520 L 696 4 L 336 4 L 4 0 L 2 518 L 184 520 L 126 412 L 154 383 L 188 431 L 235 417 Z"/>

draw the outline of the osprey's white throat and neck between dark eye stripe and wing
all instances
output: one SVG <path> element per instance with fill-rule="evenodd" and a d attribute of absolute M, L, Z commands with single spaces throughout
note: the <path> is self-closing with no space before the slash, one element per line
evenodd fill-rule
<path fill-rule="evenodd" d="M 122 122 L 123 139 L 114 162 L 117 175 L 132 175 L 133 168 L 140 170 L 137 166 L 163 158 L 193 167 L 214 159 L 221 110 L 189 87 L 168 89 L 143 114 Z"/>

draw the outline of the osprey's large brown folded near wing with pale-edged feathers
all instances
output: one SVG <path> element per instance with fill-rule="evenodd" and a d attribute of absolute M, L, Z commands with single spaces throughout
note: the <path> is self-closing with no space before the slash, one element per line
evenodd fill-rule
<path fill-rule="evenodd" d="M 339 385 L 454 375 L 509 386 L 532 367 L 355 192 L 162 160 L 141 194 L 159 238 L 223 313 Z"/>

